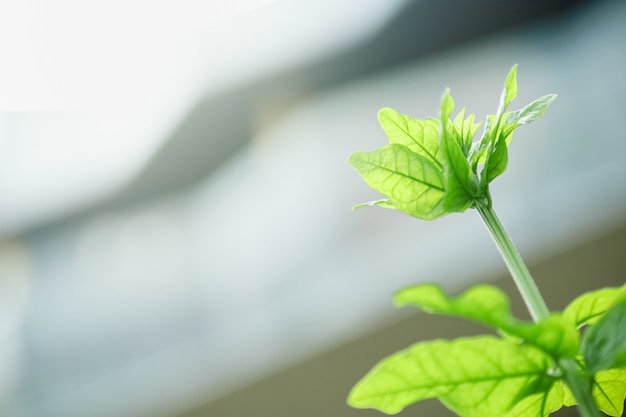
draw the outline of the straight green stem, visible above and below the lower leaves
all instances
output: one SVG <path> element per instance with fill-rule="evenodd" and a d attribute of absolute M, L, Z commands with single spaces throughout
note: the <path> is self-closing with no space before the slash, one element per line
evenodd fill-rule
<path fill-rule="evenodd" d="M 528 271 L 513 241 L 511 241 L 511 238 L 504 230 L 504 226 L 500 223 L 500 219 L 496 216 L 495 211 L 493 211 L 491 205 L 484 205 L 479 202 L 475 204 L 475 207 L 502 254 L 504 262 L 533 320 L 538 322 L 548 317 L 550 310 L 548 310 L 548 306 L 543 300 L 535 280 L 530 275 L 530 271 Z M 563 359 L 559 361 L 559 366 L 565 373 L 565 382 L 571 389 L 572 394 L 574 394 L 574 398 L 576 398 L 580 414 L 583 417 L 600 416 L 598 407 L 591 395 L 591 378 L 580 371 L 578 364 L 573 359 Z"/>

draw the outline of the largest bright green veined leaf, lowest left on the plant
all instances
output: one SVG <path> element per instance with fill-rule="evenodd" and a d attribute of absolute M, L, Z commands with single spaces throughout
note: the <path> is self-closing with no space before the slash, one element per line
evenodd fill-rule
<path fill-rule="evenodd" d="M 504 415 L 529 387 L 550 386 L 551 358 L 490 336 L 418 343 L 382 360 L 353 388 L 348 403 L 396 414 L 428 398 L 461 417 Z"/>

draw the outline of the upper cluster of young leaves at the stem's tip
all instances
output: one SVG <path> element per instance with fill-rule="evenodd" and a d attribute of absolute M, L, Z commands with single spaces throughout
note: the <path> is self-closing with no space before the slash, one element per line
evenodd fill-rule
<path fill-rule="evenodd" d="M 349 163 L 367 184 L 386 198 L 358 204 L 397 208 L 433 220 L 481 204 L 491 206 L 489 184 L 508 164 L 508 144 L 517 127 L 543 116 L 556 95 L 543 96 L 516 111 L 507 111 L 517 96 L 517 65 L 506 78 L 496 114 L 481 123 L 465 108 L 452 117 L 454 100 L 446 91 L 438 118 L 424 120 L 385 108 L 378 113 L 389 144 L 370 152 L 354 152 Z"/>

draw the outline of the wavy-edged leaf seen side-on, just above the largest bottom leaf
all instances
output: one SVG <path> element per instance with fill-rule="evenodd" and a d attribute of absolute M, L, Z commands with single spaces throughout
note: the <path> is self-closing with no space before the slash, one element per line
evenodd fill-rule
<path fill-rule="evenodd" d="M 579 334 L 560 315 L 540 323 L 518 320 L 511 314 L 509 299 L 491 285 L 476 285 L 457 297 L 444 293 L 438 284 L 423 284 L 400 290 L 394 296 L 396 305 L 415 305 L 428 313 L 465 317 L 519 337 L 555 358 L 572 358 L 578 354 Z"/>

